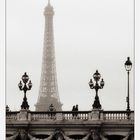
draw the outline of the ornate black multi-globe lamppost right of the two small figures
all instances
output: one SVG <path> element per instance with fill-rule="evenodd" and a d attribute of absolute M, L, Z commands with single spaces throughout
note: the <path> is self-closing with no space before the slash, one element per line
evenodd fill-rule
<path fill-rule="evenodd" d="M 104 80 L 101 79 L 100 84 L 99 84 L 98 82 L 99 82 L 100 78 L 101 78 L 101 75 L 98 72 L 98 70 L 96 70 L 96 72 L 93 74 L 93 79 L 95 80 L 95 85 L 94 85 L 92 79 L 90 79 L 90 81 L 89 81 L 89 87 L 91 89 L 95 89 L 95 92 L 96 92 L 94 104 L 92 105 L 93 109 L 102 108 L 102 106 L 100 104 L 99 96 L 98 96 L 98 90 L 102 89 L 104 87 L 105 83 L 104 83 Z"/>

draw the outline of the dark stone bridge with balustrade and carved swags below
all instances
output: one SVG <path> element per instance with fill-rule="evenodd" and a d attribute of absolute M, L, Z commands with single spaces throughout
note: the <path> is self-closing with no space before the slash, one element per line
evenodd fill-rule
<path fill-rule="evenodd" d="M 6 140 L 134 140 L 134 111 L 8 111 Z"/>

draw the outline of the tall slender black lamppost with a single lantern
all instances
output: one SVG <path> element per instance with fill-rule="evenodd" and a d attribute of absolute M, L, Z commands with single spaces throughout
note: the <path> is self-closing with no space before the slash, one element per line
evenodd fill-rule
<path fill-rule="evenodd" d="M 130 103 L 129 103 L 129 72 L 132 69 L 132 62 L 130 61 L 130 57 L 127 57 L 127 61 L 124 63 L 125 69 L 127 71 L 128 75 L 128 80 L 127 80 L 127 97 L 126 97 L 126 102 L 127 102 L 127 109 L 126 111 L 130 111 Z M 128 114 L 129 115 L 129 114 Z"/>

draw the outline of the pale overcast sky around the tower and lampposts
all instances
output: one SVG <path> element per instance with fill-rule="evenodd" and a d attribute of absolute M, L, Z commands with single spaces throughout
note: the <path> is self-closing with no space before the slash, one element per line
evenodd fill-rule
<path fill-rule="evenodd" d="M 23 92 L 18 83 L 26 71 L 32 80 L 27 92 L 30 110 L 39 94 L 47 0 L 7 0 L 6 101 L 19 110 Z M 63 110 L 74 104 L 91 110 L 95 91 L 88 86 L 98 69 L 105 81 L 99 90 L 104 110 L 125 110 L 127 56 L 134 61 L 133 0 L 51 0 L 54 7 L 54 42 L 57 81 Z M 130 106 L 133 107 L 133 69 Z"/>

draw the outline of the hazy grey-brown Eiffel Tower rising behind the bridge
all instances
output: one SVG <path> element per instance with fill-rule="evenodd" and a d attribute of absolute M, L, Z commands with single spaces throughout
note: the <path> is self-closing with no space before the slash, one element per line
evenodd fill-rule
<path fill-rule="evenodd" d="M 45 7 L 45 33 L 44 47 L 42 57 L 42 72 L 40 79 L 39 96 L 36 106 L 36 111 L 48 111 L 50 105 L 53 105 L 56 111 L 62 110 L 57 85 L 57 74 L 55 64 L 55 49 L 53 35 L 53 7 L 48 0 L 48 5 Z"/>

